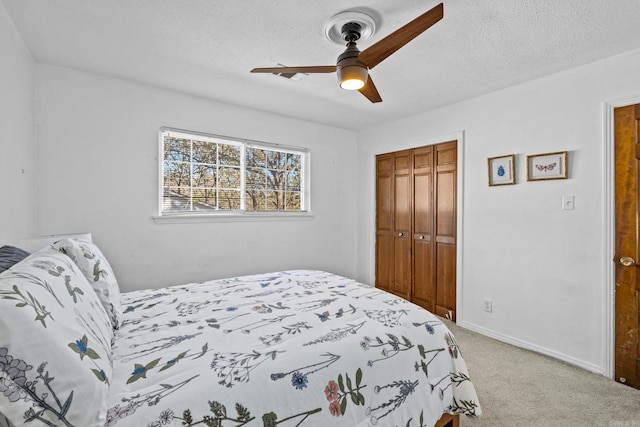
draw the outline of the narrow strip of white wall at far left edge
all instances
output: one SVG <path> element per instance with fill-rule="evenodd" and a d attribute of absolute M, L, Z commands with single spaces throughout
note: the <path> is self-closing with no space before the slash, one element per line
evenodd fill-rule
<path fill-rule="evenodd" d="M 0 2 L 0 246 L 19 246 L 34 227 L 34 68 Z"/>

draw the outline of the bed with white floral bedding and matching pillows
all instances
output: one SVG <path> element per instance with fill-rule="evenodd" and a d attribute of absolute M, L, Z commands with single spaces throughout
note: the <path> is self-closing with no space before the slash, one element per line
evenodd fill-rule
<path fill-rule="evenodd" d="M 481 408 L 418 306 L 295 270 L 120 293 L 65 239 L 0 273 L 0 426 L 458 425 Z"/>

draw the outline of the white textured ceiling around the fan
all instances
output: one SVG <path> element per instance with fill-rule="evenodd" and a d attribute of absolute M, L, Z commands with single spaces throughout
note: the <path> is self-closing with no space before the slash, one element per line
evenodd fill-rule
<path fill-rule="evenodd" d="M 371 71 L 383 102 L 335 74 L 338 12 L 375 18 L 366 49 L 438 0 L 1 0 L 37 61 L 361 130 L 640 48 L 640 0 L 444 0 L 444 18 Z M 366 6 L 363 6 L 366 4 Z"/>

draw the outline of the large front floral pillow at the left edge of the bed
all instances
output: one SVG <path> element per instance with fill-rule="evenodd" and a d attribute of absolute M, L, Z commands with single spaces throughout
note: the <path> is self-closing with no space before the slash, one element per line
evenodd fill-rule
<path fill-rule="evenodd" d="M 0 274 L 0 425 L 103 426 L 111 322 L 80 269 L 46 247 Z"/>

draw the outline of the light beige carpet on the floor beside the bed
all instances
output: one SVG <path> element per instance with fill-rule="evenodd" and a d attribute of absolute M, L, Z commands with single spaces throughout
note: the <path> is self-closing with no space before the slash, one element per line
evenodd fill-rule
<path fill-rule="evenodd" d="M 462 427 L 640 427 L 640 390 L 446 321 L 483 416 Z"/>

